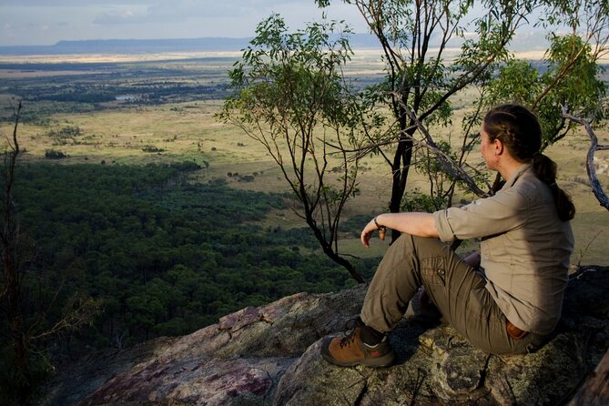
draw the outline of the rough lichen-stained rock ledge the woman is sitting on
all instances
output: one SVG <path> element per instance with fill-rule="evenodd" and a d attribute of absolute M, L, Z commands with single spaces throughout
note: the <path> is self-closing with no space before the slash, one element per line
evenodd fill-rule
<path fill-rule="evenodd" d="M 578 273 L 553 339 L 524 356 L 476 350 L 450 326 L 432 325 L 413 309 L 391 334 L 397 364 L 378 370 L 335 367 L 320 357 L 321 339 L 357 316 L 366 287 L 299 293 L 160 341 L 136 365 L 71 399 L 81 405 L 561 404 L 609 346 L 608 288 L 609 269 Z M 50 403 L 66 400 L 60 391 L 54 396 Z"/>

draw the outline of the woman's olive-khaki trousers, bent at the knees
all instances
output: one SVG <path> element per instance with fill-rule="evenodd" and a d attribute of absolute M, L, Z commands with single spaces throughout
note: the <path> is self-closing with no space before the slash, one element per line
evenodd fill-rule
<path fill-rule="evenodd" d="M 485 284 L 475 269 L 439 239 L 402 234 L 381 260 L 360 318 L 375 330 L 393 330 L 423 286 L 443 319 L 479 349 L 522 354 L 541 346 L 542 336 L 528 333 L 514 340 L 508 335 L 507 320 Z"/>

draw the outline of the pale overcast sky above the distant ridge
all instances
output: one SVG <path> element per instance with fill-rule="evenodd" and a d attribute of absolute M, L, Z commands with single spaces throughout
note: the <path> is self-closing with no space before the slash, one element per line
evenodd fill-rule
<path fill-rule="evenodd" d="M 366 32 L 353 6 L 335 2 L 330 19 Z M 290 29 L 319 21 L 314 0 L 0 0 L 0 46 L 53 45 L 61 40 L 254 36 L 271 13 Z"/>

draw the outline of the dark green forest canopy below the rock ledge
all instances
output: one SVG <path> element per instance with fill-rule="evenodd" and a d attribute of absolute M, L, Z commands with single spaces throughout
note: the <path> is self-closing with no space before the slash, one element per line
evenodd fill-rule
<path fill-rule="evenodd" d="M 254 223 L 285 208 L 286 196 L 222 180 L 193 183 L 193 169 L 188 162 L 18 167 L 27 311 L 57 290 L 58 302 L 75 292 L 101 299 L 101 314 L 71 345 L 120 348 L 186 334 L 298 291 L 355 283 L 312 252 L 317 243 L 306 228 Z M 369 261 L 362 264 L 368 275 Z"/>

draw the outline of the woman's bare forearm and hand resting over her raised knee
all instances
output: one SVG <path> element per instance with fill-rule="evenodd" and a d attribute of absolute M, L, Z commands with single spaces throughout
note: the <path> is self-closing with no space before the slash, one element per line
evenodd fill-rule
<path fill-rule="evenodd" d="M 370 247 L 370 238 L 379 228 L 377 224 L 379 227 L 395 229 L 413 236 L 438 238 L 438 230 L 431 213 L 384 213 L 371 219 L 361 231 L 360 239 L 364 247 Z M 379 230 L 379 238 L 385 239 L 384 231 Z"/>

